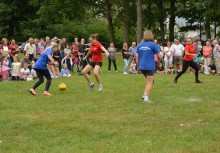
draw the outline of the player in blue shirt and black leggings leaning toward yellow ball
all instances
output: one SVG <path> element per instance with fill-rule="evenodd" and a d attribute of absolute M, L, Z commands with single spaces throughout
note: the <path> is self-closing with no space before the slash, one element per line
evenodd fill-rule
<path fill-rule="evenodd" d="M 34 96 L 37 95 L 35 89 L 44 82 L 44 77 L 47 79 L 44 95 L 45 96 L 52 95 L 48 92 L 52 79 L 50 76 L 50 72 L 47 68 L 47 64 L 58 66 L 58 63 L 55 62 L 52 57 L 53 52 L 58 51 L 58 49 L 59 49 L 58 44 L 52 43 L 52 45 L 48 47 L 43 54 L 41 54 L 40 58 L 37 60 L 36 64 L 34 65 L 34 70 L 37 72 L 37 77 L 39 78 L 39 81 L 35 83 L 35 85 L 29 90 L 32 95 Z"/>

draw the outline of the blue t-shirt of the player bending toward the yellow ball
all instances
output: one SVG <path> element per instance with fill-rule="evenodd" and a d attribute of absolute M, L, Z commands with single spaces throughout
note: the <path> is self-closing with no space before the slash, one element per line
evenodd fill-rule
<path fill-rule="evenodd" d="M 45 50 L 44 53 L 41 54 L 36 64 L 34 65 L 35 69 L 40 69 L 40 70 L 47 69 L 47 63 L 50 62 L 50 59 L 47 57 L 47 55 L 51 55 L 51 56 L 53 55 L 53 50 L 51 48 Z"/>

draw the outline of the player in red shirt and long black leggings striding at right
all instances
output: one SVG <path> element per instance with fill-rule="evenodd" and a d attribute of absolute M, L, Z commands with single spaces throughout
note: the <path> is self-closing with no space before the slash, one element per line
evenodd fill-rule
<path fill-rule="evenodd" d="M 195 70 L 195 79 L 196 79 L 195 83 L 201 83 L 201 81 L 199 81 L 199 79 L 198 79 L 198 77 L 199 77 L 199 67 L 194 62 L 194 58 L 197 56 L 197 54 L 196 54 L 195 46 L 193 45 L 192 38 L 188 38 L 186 43 L 187 43 L 187 45 L 185 47 L 185 55 L 184 55 L 184 58 L 183 58 L 183 69 L 176 76 L 176 78 L 173 80 L 173 82 L 177 83 L 178 78 L 182 74 L 184 74 L 186 72 L 186 70 L 188 69 L 188 67 L 190 66 Z"/>

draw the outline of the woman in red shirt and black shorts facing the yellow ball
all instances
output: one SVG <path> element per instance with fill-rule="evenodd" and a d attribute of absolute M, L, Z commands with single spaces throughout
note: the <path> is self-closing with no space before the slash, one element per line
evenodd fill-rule
<path fill-rule="evenodd" d="M 99 84 L 98 91 L 102 91 L 103 87 L 99 77 L 99 71 L 102 66 L 102 51 L 105 52 L 107 57 L 109 56 L 108 51 L 102 46 L 101 43 L 98 42 L 97 38 L 98 34 L 92 34 L 89 37 L 89 41 L 91 42 L 90 50 L 87 53 L 87 55 L 83 58 L 83 60 L 86 60 L 89 57 L 89 55 L 92 54 L 91 62 L 87 64 L 82 71 L 82 74 L 89 83 L 90 91 L 93 90 L 95 84 L 91 81 L 88 72 L 93 69 L 93 74 L 95 75 L 96 81 Z"/>

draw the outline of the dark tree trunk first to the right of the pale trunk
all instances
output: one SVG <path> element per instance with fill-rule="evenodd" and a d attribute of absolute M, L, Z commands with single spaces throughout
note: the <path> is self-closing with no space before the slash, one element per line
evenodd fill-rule
<path fill-rule="evenodd" d="M 157 0 L 157 7 L 159 10 L 159 23 L 160 23 L 160 37 L 161 37 L 161 42 L 164 42 L 164 0 Z"/>

